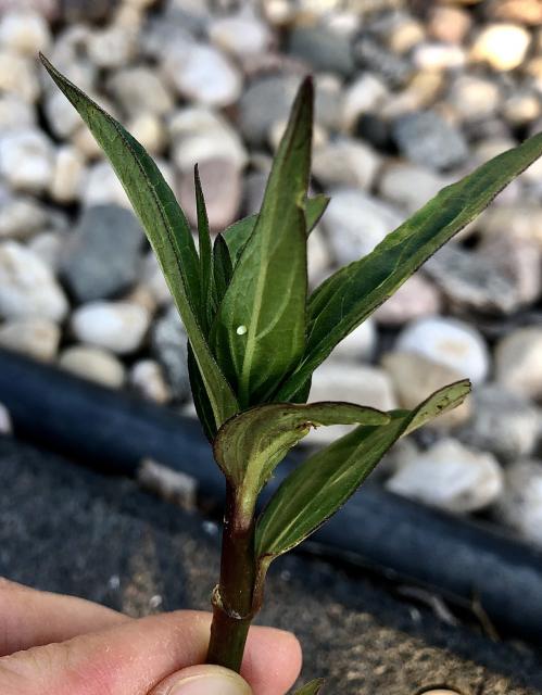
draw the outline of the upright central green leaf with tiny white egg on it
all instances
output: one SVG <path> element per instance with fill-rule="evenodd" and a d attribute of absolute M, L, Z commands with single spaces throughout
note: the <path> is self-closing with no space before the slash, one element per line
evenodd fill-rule
<path fill-rule="evenodd" d="M 256 226 L 214 321 L 214 354 L 241 407 L 264 402 L 305 346 L 306 227 L 313 87 L 299 91 Z"/>

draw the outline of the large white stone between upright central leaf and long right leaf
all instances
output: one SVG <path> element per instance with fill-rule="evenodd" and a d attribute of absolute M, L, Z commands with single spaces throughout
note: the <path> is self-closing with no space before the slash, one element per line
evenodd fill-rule
<path fill-rule="evenodd" d="M 391 206 L 356 189 L 331 191 L 322 225 L 340 265 L 365 256 L 402 222 Z"/>

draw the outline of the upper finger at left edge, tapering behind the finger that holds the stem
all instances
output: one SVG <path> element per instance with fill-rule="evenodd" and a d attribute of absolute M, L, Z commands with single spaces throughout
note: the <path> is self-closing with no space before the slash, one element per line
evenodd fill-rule
<path fill-rule="evenodd" d="M 28 589 L 0 578 L 0 656 L 64 642 L 129 620 L 83 598 Z"/>

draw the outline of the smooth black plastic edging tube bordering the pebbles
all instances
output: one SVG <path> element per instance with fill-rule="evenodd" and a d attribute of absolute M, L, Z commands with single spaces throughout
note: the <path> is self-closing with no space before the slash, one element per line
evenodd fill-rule
<path fill-rule="evenodd" d="M 224 483 L 198 422 L 173 410 L 0 351 L 0 402 L 17 437 L 111 473 L 137 475 L 150 457 L 222 500 Z M 283 477 L 278 475 L 269 493 Z M 542 552 L 496 529 L 367 484 L 314 536 L 466 601 L 507 633 L 542 644 Z"/>

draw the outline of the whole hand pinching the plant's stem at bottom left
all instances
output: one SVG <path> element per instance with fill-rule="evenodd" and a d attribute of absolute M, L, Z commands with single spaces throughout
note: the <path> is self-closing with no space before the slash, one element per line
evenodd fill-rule
<path fill-rule="evenodd" d="M 251 628 L 241 678 L 202 666 L 210 624 L 191 610 L 134 620 L 0 578 L 0 693 L 283 695 L 292 685 L 301 667 L 292 634 Z"/>

